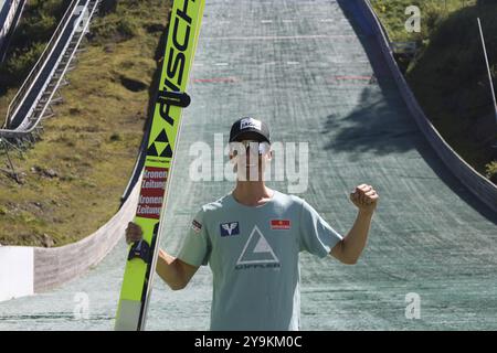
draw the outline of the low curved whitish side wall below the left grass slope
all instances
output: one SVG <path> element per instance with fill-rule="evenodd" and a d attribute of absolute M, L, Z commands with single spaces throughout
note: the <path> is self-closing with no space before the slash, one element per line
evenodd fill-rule
<path fill-rule="evenodd" d="M 140 183 L 123 207 L 91 236 L 55 248 L 0 246 L 0 301 L 31 296 L 75 279 L 117 244 L 136 213 Z M 125 256 L 125 255 L 123 255 Z"/>

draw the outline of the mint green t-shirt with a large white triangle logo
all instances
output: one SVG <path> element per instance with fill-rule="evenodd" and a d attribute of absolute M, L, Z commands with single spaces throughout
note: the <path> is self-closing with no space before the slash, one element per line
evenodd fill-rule
<path fill-rule="evenodd" d="M 178 258 L 211 267 L 211 330 L 298 330 L 298 254 L 325 257 L 341 238 L 297 196 L 251 207 L 228 194 L 201 207 Z"/>

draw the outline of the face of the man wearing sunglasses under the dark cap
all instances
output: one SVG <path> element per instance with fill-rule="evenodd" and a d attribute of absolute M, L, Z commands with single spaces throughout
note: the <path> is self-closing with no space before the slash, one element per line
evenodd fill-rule
<path fill-rule="evenodd" d="M 236 163 L 239 181 L 262 181 L 272 159 L 271 145 L 256 133 L 243 135 L 230 143 L 230 159 Z"/>

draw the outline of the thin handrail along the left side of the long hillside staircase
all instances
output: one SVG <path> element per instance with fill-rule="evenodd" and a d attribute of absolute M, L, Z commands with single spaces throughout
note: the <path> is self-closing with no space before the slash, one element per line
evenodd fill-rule
<path fill-rule="evenodd" d="M 25 93 L 31 88 L 33 82 L 36 79 L 38 75 L 41 72 L 41 68 L 44 66 L 46 58 L 50 56 L 50 53 L 52 52 L 53 47 L 59 42 L 59 36 L 62 33 L 62 31 L 65 29 L 68 19 L 71 18 L 78 0 L 73 0 L 71 4 L 68 6 L 67 10 L 64 13 L 64 17 L 62 18 L 61 22 L 59 23 L 57 28 L 55 29 L 55 32 L 53 33 L 52 38 L 49 41 L 49 44 L 46 44 L 45 50 L 40 55 L 40 58 L 38 60 L 36 64 L 34 64 L 33 68 L 29 73 L 27 79 L 22 84 L 21 88 L 19 88 L 18 93 L 13 97 L 12 101 L 9 105 L 9 108 L 7 110 L 7 119 L 6 124 L 3 125 L 4 128 L 9 127 L 10 119 L 15 114 L 17 109 L 19 108 L 20 104 L 24 100 Z M 12 113 L 13 111 L 13 113 Z"/>

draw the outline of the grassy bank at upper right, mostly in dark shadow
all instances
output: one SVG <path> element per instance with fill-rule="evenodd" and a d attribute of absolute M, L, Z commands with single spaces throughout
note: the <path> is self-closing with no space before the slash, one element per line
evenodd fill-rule
<path fill-rule="evenodd" d="M 416 41 L 421 51 L 405 76 L 419 103 L 451 147 L 495 181 L 497 127 L 476 18 L 482 18 L 497 82 L 497 1 L 373 1 L 392 41 Z M 419 4 L 421 33 L 408 33 L 404 9 Z"/>

